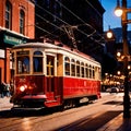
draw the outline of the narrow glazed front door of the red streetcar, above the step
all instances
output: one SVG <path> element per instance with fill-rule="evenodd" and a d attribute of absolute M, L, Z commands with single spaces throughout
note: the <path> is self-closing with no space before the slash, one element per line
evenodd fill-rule
<path fill-rule="evenodd" d="M 49 99 L 55 98 L 55 57 L 47 56 L 47 95 Z"/>

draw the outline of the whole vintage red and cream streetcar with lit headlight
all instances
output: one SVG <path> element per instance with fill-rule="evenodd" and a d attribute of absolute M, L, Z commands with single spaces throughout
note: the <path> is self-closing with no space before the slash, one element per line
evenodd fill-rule
<path fill-rule="evenodd" d="M 20 108 L 74 106 L 100 98 L 100 63 L 66 45 L 27 43 L 12 48 Z"/>

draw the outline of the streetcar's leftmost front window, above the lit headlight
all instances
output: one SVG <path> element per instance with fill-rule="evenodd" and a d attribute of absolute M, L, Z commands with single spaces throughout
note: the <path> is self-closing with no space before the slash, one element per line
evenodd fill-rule
<path fill-rule="evenodd" d="M 29 57 L 17 57 L 17 73 L 29 73 Z"/>

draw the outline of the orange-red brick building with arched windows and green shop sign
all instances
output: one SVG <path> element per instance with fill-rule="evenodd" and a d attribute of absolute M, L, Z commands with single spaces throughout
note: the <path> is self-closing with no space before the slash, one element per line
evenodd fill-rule
<path fill-rule="evenodd" d="M 11 48 L 35 37 L 32 0 L 0 0 L 0 83 L 13 76 Z"/>

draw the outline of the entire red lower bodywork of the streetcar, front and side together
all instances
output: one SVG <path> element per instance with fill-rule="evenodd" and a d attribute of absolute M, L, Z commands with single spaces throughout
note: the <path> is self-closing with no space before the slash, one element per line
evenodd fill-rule
<path fill-rule="evenodd" d="M 16 94 L 19 93 L 19 87 L 23 84 L 26 84 L 27 94 L 45 94 L 45 105 L 47 107 L 61 105 L 64 98 L 75 98 L 92 95 L 100 97 L 100 81 L 55 76 L 52 82 L 55 88 L 53 91 L 49 92 L 47 90 L 48 83 L 46 76 L 17 76 L 15 78 L 15 85 L 17 88 Z M 33 88 L 31 90 L 29 86 Z"/>

